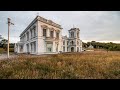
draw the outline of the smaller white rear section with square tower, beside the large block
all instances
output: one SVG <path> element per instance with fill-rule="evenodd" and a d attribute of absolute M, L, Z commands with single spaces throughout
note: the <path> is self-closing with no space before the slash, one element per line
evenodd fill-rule
<path fill-rule="evenodd" d="M 71 28 L 69 31 L 69 37 L 62 37 L 62 51 L 63 52 L 81 52 L 82 41 L 79 38 L 79 28 Z"/>

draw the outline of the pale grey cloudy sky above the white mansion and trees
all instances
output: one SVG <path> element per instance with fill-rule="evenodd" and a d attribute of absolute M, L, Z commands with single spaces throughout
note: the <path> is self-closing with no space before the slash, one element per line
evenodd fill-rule
<path fill-rule="evenodd" d="M 7 39 L 9 17 L 15 24 L 10 26 L 10 42 L 17 43 L 37 15 L 60 24 L 63 36 L 76 27 L 83 42 L 120 43 L 120 11 L 0 11 L 0 35 Z"/>

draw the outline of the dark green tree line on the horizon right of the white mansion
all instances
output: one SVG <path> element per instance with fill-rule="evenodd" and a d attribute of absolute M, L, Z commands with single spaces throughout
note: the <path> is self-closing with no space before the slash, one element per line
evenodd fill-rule
<path fill-rule="evenodd" d="M 120 51 L 120 44 L 109 42 L 109 43 L 101 43 L 96 41 L 91 41 L 84 43 L 83 47 L 88 48 L 90 45 L 92 45 L 95 49 L 106 49 L 109 51 Z"/>

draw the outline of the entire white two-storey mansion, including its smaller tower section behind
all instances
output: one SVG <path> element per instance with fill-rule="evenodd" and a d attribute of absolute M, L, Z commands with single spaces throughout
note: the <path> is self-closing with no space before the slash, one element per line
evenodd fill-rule
<path fill-rule="evenodd" d="M 80 52 L 82 42 L 79 39 L 79 31 L 77 28 L 71 29 L 69 30 L 69 38 L 62 38 L 61 25 L 37 16 L 20 34 L 20 42 L 15 45 L 14 50 L 16 53 L 37 55 L 59 53 L 60 51 Z M 67 45 L 65 43 L 65 45 L 63 45 L 64 41 L 68 41 L 69 44 Z M 65 50 L 63 48 L 65 48 Z M 68 48 L 68 50 L 66 48 Z"/>

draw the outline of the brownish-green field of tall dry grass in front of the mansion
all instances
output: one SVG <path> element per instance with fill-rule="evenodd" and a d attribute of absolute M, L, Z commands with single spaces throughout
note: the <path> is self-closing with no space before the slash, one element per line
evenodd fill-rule
<path fill-rule="evenodd" d="M 19 55 L 0 61 L 0 79 L 120 79 L 120 52 Z"/>

